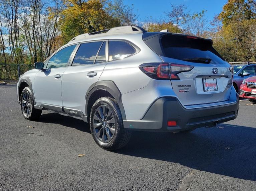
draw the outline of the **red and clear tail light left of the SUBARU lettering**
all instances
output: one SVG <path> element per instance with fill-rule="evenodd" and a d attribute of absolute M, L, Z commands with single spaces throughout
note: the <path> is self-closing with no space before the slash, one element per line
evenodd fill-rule
<path fill-rule="evenodd" d="M 153 62 L 141 64 L 139 68 L 149 77 L 153 79 L 162 80 L 179 80 L 178 74 L 181 72 L 188 72 L 194 68 L 194 66 L 184 64 L 174 64 L 167 62 Z"/>

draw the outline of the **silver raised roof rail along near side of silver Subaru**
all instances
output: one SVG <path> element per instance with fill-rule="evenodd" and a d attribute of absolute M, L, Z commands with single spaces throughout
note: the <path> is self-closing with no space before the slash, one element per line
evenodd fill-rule
<path fill-rule="evenodd" d="M 100 37 L 100 36 L 107 36 L 107 35 L 118 35 L 118 34 L 134 34 L 134 33 L 145 33 L 147 32 L 142 27 L 130 25 L 130 26 L 121 26 L 121 27 L 114 27 L 111 29 L 105 29 L 101 31 L 96 31 L 92 33 L 84 33 L 82 35 L 78 35 L 75 38 L 71 39 L 74 40 L 81 40 L 81 39 L 88 39 L 92 37 Z M 69 43 L 71 42 L 69 41 Z"/>

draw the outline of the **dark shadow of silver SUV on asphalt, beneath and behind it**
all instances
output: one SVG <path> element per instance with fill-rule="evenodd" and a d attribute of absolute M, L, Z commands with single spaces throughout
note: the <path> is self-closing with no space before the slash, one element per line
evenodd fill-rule
<path fill-rule="evenodd" d="M 59 114 L 43 114 L 40 122 L 90 133 L 88 124 Z M 224 128 L 199 128 L 187 134 L 133 132 L 127 146 L 115 152 L 255 181 L 256 128 L 218 126 Z"/>

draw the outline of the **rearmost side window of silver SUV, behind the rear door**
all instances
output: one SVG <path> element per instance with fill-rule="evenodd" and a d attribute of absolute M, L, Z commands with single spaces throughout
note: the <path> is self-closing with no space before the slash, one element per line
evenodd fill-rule
<path fill-rule="evenodd" d="M 109 41 L 108 43 L 109 61 L 123 59 L 135 52 L 135 48 L 133 48 L 130 44 L 124 41 Z"/>

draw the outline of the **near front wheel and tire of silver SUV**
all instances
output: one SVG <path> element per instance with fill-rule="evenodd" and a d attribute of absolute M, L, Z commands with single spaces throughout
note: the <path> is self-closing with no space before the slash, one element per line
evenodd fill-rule
<path fill-rule="evenodd" d="M 40 118 L 42 110 L 35 109 L 33 94 L 29 87 L 25 87 L 20 96 L 20 106 L 23 117 L 30 121 L 36 121 Z"/>

